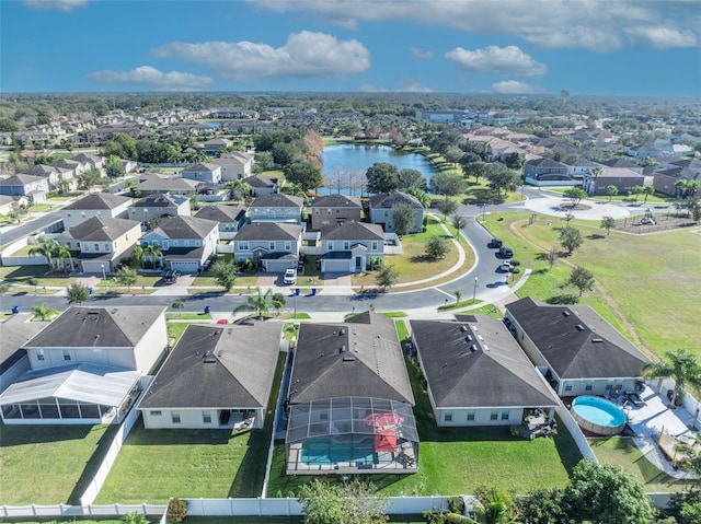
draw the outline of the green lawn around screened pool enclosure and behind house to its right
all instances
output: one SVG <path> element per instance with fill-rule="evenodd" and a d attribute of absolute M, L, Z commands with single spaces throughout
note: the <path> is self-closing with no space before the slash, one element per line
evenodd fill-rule
<path fill-rule="evenodd" d="M 508 428 L 438 428 L 430 410 L 426 384 L 418 366 L 409 364 L 418 428 L 418 473 L 368 475 L 384 496 L 472 493 L 481 484 L 502 490 L 527 492 L 536 488 L 564 487 L 582 458 L 570 434 L 525 440 Z M 560 424 L 564 428 L 564 424 Z M 515 474 L 517 471 L 517 474 Z M 288 497 L 313 477 L 285 475 L 285 444 L 276 443 L 268 497 Z M 337 476 L 331 478 L 341 481 Z"/>

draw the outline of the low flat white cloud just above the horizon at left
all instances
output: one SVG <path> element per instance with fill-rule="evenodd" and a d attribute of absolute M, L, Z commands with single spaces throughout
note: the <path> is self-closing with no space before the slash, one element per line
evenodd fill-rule
<path fill-rule="evenodd" d="M 151 66 L 141 66 L 130 71 L 96 71 L 87 77 L 105 84 L 146 85 L 153 91 L 202 91 L 214 83 L 209 77 L 180 71 L 165 73 Z"/>

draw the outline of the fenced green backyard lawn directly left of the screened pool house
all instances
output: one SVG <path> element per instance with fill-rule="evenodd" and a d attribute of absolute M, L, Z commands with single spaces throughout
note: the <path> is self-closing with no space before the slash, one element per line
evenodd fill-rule
<path fill-rule="evenodd" d="M 264 429 L 146 430 L 139 421 L 95 503 L 164 503 L 170 497 L 258 497 L 284 362 L 285 354 L 280 353 Z"/>

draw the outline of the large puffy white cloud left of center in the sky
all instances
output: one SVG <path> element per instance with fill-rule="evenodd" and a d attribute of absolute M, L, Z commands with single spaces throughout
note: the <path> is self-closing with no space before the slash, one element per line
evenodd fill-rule
<path fill-rule="evenodd" d="M 290 34 L 285 46 L 278 48 L 252 42 L 173 42 L 151 49 L 151 55 L 204 65 L 239 82 L 283 77 L 337 78 L 370 67 L 370 54 L 358 40 L 342 42 L 310 31 Z"/>

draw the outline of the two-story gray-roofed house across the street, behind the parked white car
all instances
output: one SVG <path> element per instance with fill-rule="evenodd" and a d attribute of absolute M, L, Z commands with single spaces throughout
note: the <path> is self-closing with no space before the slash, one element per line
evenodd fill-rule
<path fill-rule="evenodd" d="M 297 267 L 302 226 L 285 222 L 252 222 L 241 226 L 233 238 L 233 258 L 252 260 L 268 272 Z"/>

